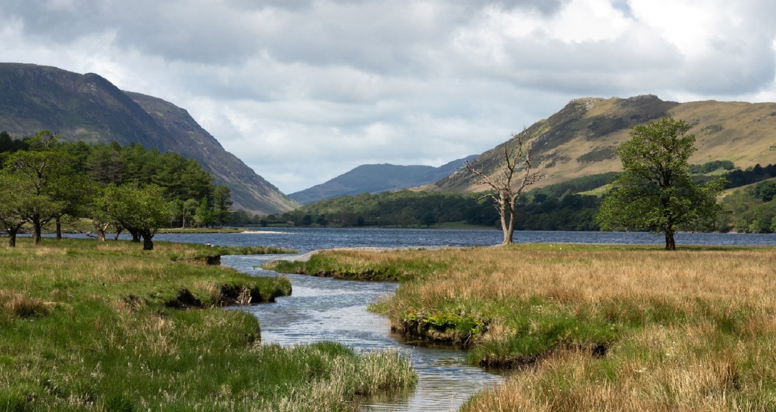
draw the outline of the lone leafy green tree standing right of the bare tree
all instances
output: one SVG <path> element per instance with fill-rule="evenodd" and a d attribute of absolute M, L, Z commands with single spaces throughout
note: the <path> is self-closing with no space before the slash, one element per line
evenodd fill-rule
<path fill-rule="evenodd" d="M 596 220 L 601 229 L 649 228 L 663 232 L 666 250 L 676 250 L 674 234 L 680 227 L 695 230 L 722 211 L 716 196 L 724 178 L 699 185 L 690 176 L 688 158 L 695 151 L 695 135 L 684 120 L 664 117 L 633 126 L 630 140 L 617 147 L 623 172 L 612 183 Z"/>

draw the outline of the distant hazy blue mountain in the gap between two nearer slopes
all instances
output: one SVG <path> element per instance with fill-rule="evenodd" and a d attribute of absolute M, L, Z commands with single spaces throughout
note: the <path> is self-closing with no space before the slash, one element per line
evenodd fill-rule
<path fill-rule="evenodd" d="M 291 193 L 289 197 L 299 203 L 314 203 L 337 196 L 359 195 L 364 192 L 377 193 L 386 190 L 414 188 L 437 182 L 461 168 L 464 161 L 472 161 L 469 156 L 438 168 L 433 166 L 399 166 L 396 164 L 362 164 L 328 182 L 314 185 L 310 189 Z"/>

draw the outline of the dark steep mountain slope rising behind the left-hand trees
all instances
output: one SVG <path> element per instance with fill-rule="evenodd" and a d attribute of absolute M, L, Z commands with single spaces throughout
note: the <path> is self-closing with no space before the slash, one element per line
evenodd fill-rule
<path fill-rule="evenodd" d="M 195 159 L 229 186 L 235 209 L 267 214 L 299 206 L 225 151 L 185 109 L 123 92 L 98 74 L 0 63 L 0 130 L 20 137 L 44 129 L 64 140 L 138 143 Z"/>

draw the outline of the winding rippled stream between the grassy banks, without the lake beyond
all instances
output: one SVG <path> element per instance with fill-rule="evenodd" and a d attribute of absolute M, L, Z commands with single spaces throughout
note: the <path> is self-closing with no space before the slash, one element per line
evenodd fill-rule
<path fill-rule="evenodd" d="M 224 256 L 222 264 L 251 275 L 275 275 L 254 268 L 262 261 L 288 255 Z M 379 296 L 393 293 L 392 282 L 359 282 L 307 275 L 288 275 L 292 296 L 276 303 L 235 306 L 255 314 L 262 324 L 262 341 L 303 344 L 339 341 L 356 351 L 394 348 L 405 351 L 418 374 L 417 389 L 391 398 L 367 401 L 362 410 L 456 410 L 473 393 L 499 376 L 466 365 L 463 351 L 444 345 L 412 345 L 390 333 L 385 317 L 366 311 Z"/>

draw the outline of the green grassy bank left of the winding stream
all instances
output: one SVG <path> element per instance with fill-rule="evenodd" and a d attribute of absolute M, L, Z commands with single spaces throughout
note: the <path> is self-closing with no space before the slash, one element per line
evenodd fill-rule
<path fill-rule="evenodd" d="M 414 384 L 395 352 L 260 344 L 220 306 L 272 301 L 289 279 L 222 268 L 236 248 L 66 239 L 0 248 L 0 410 L 353 410 Z"/>

